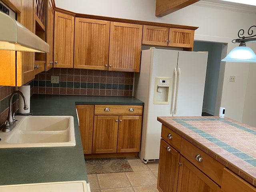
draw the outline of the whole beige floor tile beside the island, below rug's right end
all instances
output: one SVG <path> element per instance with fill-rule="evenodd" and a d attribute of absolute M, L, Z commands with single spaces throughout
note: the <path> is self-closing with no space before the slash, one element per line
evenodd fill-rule
<path fill-rule="evenodd" d="M 127 172 L 132 186 L 156 185 L 157 179 L 151 171 Z"/>

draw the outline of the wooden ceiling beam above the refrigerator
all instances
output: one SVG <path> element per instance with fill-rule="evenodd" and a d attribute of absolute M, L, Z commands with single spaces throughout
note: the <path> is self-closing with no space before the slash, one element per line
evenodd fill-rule
<path fill-rule="evenodd" d="M 156 0 L 156 16 L 166 16 L 200 0 Z"/>

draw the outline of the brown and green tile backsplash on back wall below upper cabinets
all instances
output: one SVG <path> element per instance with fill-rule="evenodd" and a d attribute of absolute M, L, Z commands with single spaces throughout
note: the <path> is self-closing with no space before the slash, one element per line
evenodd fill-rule
<path fill-rule="evenodd" d="M 133 72 L 53 68 L 35 76 L 33 93 L 132 96 Z M 52 84 L 51 76 L 59 76 Z"/>

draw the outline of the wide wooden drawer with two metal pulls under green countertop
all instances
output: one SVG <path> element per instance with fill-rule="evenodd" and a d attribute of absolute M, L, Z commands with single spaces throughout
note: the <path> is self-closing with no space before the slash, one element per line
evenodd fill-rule
<path fill-rule="evenodd" d="M 94 115 L 142 115 L 141 105 L 95 105 Z"/>

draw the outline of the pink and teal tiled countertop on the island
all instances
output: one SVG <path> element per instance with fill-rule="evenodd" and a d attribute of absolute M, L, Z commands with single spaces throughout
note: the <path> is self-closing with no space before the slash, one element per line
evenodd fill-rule
<path fill-rule="evenodd" d="M 256 187 L 255 127 L 218 116 L 157 120 Z"/>

